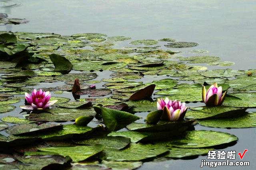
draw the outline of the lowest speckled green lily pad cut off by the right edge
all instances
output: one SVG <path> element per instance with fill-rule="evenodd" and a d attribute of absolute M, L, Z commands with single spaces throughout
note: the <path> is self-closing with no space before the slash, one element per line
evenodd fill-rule
<path fill-rule="evenodd" d="M 256 114 L 249 112 L 239 117 L 228 119 L 200 120 L 198 123 L 202 126 L 220 127 L 220 128 L 247 128 L 256 127 Z"/>

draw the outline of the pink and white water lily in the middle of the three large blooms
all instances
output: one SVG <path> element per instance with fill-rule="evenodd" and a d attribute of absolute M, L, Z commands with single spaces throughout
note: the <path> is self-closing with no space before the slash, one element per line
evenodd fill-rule
<path fill-rule="evenodd" d="M 188 107 L 185 106 L 185 103 L 181 103 L 177 100 L 169 100 L 169 98 L 165 98 L 165 100 L 157 99 L 157 109 L 163 110 L 163 114 L 161 119 L 163 121 L 179 121 L 184 119 L 186 111 Z"/>

